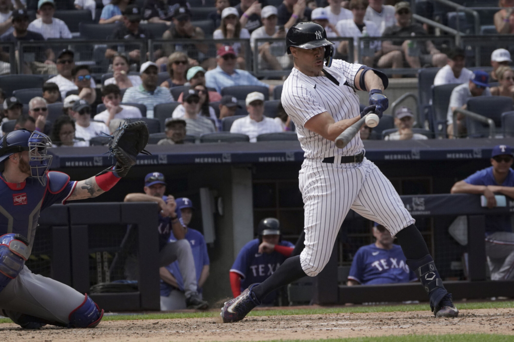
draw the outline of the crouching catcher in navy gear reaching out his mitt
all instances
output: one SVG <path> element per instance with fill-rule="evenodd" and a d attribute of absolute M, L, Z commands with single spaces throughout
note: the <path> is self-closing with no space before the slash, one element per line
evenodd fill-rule
<path fill-rule="evenodd" d="M 25 266 L 40 212 L 53 203 L 96 197 L 111 189 L 136 163 L 148 142 L 148 128 L 138 121 L 120 127 L 109 150 L 116 165 L 97 176 L 70 181 L 48 171 L 50 139 L 38 131 L 15 130 L 0 139 L 0 310 L 22 328 L 44 325 L 94 328 L 103 316 L 87 296 Z M 146 152 L 146 151 L 144 151 Z"/>

